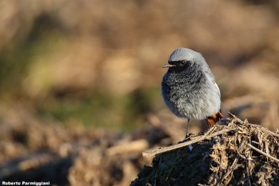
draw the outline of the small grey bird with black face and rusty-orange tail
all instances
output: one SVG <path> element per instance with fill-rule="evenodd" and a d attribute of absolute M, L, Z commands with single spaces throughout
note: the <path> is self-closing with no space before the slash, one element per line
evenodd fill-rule
<path fill-rule="evenodd" d="M 220 90 L 202 54 L 188 48 L 174 50 L 163 68 L 162 95 L 165 104 L 179 118 L 206 119 L 209 126 L 220 118 Z M 187 134 L 188 134 L 187 123 Z"/>

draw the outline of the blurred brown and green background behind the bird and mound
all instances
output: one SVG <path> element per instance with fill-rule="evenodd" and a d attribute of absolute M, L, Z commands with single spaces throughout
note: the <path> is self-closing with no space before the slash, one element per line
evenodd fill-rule
<path fill-rule="evenodd" d="M 185 136 L 160 95 L 178 47 L 203 54 L 225 116 L 276 131 L 278 18 L 278 1 L 0 1 L 0 180 L 128 185 L 142 150 Z"/>

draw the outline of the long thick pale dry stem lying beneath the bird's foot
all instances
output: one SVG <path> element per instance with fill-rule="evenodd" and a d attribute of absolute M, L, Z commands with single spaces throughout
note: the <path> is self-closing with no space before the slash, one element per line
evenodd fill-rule
<path fill-rule="evenodd" d="M 206 134 L 204 134 L 202 137 L 200 137 L 199 139 L 193 139 L 191 141 L 186 141 L 186 142 L 183 142 L 181 144 L 176 144 L 176 145 L 173 145 L 173 146 L 166 146 L 166 147 L 163 147 L 163 148 L 159 148 L 157 150 L 147 150 L 145 152 L 142 153 L 142 156 L 143 157 L 146 157 L 146 156 L 149 156 L 149 155 L 157 155 L 158 153 L 165 153 L 169 150 L 174 150 L 176 148 L 181 148 L 181 147 L 184 147 L 184 146 L 189 146 L 190 144 L 195 144 L 199 141 L 202 141 L 204 139 L 207 139 L 207 138 L 212 138 L 212 137 L 216 137 L 220 134 L 223 134 L 223 133 L 226 133 L 226 132 L 230 132 L 230 131 L 234 131 L 235 129 L 224 129 L 224 130 L 220 130 L 218 132 L 214 132 L 212 134 L 207 134 L 208 132 L 206 132 Z"/>

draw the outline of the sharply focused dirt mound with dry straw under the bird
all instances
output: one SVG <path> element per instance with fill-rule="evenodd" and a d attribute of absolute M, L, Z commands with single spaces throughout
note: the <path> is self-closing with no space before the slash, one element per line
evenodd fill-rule
<path fill-rule="evenodd" d="M 177 148 L 185 144 L 193 149 Z M 172 148 L 155 150 L 131 185 L 279 185 L 279 134 L 247 120 L 220 121 Z"/>

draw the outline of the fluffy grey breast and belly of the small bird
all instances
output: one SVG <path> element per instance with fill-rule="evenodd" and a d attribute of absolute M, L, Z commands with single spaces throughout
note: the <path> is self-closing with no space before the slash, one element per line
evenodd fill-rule
<path fill-rule="evenodd" d="M 199 70 L 183 74 L 167 72 L 162 94 L 167 107 L 181 118 L 201 120 L 220 109 L 220 91 Z"/>

